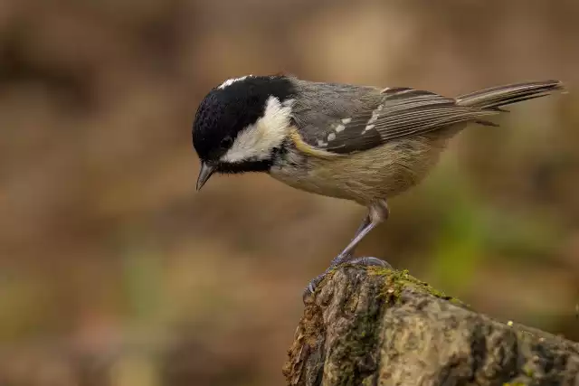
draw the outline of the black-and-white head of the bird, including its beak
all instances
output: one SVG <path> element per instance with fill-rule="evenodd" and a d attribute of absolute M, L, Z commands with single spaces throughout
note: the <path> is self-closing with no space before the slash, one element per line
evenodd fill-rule
<path fill-rule="evenodd" d="M 284 76 L 226 80 L 201 102 L 193 146 L 201 160 L 197 190 L 214 173 L 267 172 L 291 126 L 294 88 Z"/>

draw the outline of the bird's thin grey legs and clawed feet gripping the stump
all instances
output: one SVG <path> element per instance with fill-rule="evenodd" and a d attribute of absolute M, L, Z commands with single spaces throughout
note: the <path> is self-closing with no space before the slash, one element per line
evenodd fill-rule
<path fill-rule="evenodd" d="M 385 200 L 379 200 L 376 202 L 372 202 L 370 207 L 368 208 L 368 214 L 365 217 L 364 221 L 356 231 L 356 236 L 350 243 L 346 246 L 346 249 L 342 250 L 342 252 L 337 255 L 336 259 L 332 260 L 329 268 L 326 269 L 326 272 L 319 275 L 318 278 L 314 278 L 308 284 L 308 287 L 304 290 L 303 298 L 304 301 L 306 297 L 313 294 L 318 286 L 319 282 L 326 276 L 329 269 L 336 267 L 339 264 L 342 264 L 349 260 L 352 264 L 360 264 L 364 266 L 381 266 L 381 267 L 389 267 L 392 268 L 388 263 L 381 259 L 365 257 L 365 258 L 358 258 L 358 259 L 351 259 L 354 250 L 356 249 L 357 245 L 362 241 L 365 236 L 370 233 L 376 226 L 384 222 L 389 215 L 388 205 L 386 204 Z"/>

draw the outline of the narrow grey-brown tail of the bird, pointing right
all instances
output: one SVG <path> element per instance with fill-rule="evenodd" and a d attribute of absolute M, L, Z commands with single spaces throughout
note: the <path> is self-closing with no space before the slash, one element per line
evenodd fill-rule
<path fill-rule="evenodd" d="M 501 110 L 501 106 L 545 97 L 557 89 L 564 89 L 559 80 L 508 84 L 461 95 L 456 98 L 456 103 L 465 107 Z"/>

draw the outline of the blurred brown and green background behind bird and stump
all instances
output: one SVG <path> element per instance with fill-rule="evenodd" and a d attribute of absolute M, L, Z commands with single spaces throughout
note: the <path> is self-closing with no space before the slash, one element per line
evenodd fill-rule
<path fill-rule="evenodd" d="M 3 0 L 0 384 L 261 386 L 365 209 L 266 175 L 195 193 L 191 124 L 244 74 L 571 92 L 470 127 L 359 252 L 579 340 L 575 0 Z"/>

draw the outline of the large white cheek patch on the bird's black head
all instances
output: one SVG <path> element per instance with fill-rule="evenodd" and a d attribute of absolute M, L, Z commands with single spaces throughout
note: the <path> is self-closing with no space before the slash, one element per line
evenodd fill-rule
<path fill-rule="evenodd" d="M 233 146 L 221 157 L 223 162 L 240 162 L 245 160 L 263 160 L 271 155 L 271 150 L 281 145 L 289 136 L 289 118 L 293 99 L 280 103 L 280 99 L 271 96 L 263 117 L 255 124 L 242 129 Z"/>

